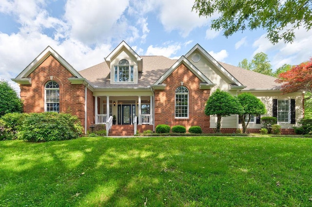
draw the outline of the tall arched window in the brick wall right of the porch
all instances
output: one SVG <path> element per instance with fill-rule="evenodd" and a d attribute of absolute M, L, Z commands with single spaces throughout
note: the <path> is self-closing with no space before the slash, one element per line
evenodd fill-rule
<path fill-rule="evenodd" d="M 176 88 L 176 118 L 189 117 L 189 90 L 185 86 Z"/>

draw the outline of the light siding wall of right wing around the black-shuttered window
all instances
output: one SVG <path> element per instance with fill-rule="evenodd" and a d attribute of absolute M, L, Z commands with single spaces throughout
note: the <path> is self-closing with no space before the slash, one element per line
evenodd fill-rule
<path fill-rule="evenodd" d="M 263 104 L 265 104 L 267 109 L 267 114 L 261 115 L 261 117 L 272 117 L 273 111 L 273 99 L 277 100 L 291 100 L 295 99 L 295 109 L 296 109 L 296 124 L 291 123 L 278 123 L 283 129 L 292 129 L 293 126 L 298 125 L 298 121 L 303 118 L 303 103 L 302 103 L 302 93 L 292 93 L 292 94 L 282 94 L 281 92 L 252 92 L 256 97 L 258 97 Z M 261 129 L 262 124 L 249 123 L 248 128 L 251 129 Z M 241 128 L 241 125 L 239 126 Z"/>

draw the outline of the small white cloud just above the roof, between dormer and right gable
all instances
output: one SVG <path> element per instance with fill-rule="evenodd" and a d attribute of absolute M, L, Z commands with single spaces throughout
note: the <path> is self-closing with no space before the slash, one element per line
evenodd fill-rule
<path fill-rule="evenodd" d="M 176 54 L 178 50 L 181 49 L 180 44 L 172 44 L 165 47 L 154 47 L 150 45 L 147 48 L 145 55 L 163 55 L 165 57 L 171 57 L 172 55 Z"/>

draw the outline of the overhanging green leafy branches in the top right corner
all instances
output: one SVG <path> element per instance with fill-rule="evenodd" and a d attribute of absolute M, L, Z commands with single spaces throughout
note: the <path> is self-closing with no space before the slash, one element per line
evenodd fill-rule
<path fill-rule="evenodd" d="M 292 42 L 294 30 L 312 27 L 311 0 L 195 0 L 192 11 L 199 17 L 218 17 L 211 28 L 226 37 L 246 29 L 264 28 L 272 44 Z"/>

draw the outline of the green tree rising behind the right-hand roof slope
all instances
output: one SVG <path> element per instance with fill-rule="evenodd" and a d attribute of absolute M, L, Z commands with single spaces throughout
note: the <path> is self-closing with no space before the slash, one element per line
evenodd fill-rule
<path fill-rule="evenodd" d="M 265 75 L 272 75 L 272 65 L 268 58 L 268 55 L 264 52 L 258 52 L 254 55 L 251 62 L 245 58 L 238 63 L 238 67 L 243 69 L 253 70 Z"/>

